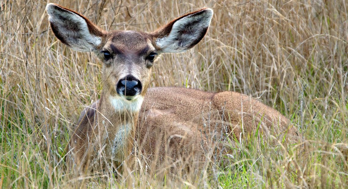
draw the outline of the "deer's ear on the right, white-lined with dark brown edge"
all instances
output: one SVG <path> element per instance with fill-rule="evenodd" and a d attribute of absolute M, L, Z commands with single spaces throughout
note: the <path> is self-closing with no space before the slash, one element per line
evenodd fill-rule
<path fill-rule="evenodd" d="M 195 46 L 206 34 L 213 10 L 203 8 L 181 16 L 152 33 L 159 52 L 185 52 Z"/>

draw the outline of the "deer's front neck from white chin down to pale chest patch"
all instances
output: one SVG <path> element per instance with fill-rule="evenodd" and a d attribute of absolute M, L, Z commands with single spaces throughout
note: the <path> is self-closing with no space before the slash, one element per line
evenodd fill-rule
<path fill-rule="evenodd" d="M 120 96 L 103 95 L 99 101 L 98 129 L 101 132 L 104 152 L 118 162 L 124 161 L 132 152 L 135 138 L 135 127 L 142 96 L 127 100 Z"/>

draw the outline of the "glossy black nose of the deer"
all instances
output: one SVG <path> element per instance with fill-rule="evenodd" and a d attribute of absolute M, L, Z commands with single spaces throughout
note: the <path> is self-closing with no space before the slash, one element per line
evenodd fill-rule
<path fill-rule="evenodd" d="M 124 96 L 135 96 L 140 94 L 141 89 L 141 82 L 133 75 L 127 75 L 125 78 L 119 80 L 116 84 L 117 93 Z"/>

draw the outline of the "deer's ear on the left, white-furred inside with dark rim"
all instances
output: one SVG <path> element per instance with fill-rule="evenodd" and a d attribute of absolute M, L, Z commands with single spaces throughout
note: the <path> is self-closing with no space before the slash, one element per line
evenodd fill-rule
<path fill-rule="evenodd" d="M 103 30 L 83 15 L 54 3 L 46 11 L 54 35 L 71 49 L 94 51 L 102 43 Z"/>

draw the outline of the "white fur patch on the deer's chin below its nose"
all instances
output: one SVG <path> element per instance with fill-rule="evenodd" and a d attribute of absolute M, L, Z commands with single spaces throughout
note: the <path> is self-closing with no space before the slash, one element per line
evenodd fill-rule
<path fill-rule="evenodd" d="M 137 96 L 110 96 L 110 103 L 117 112 L 127 111 L 130 113 L 139 112 L 141 104 L 143 103 L 143 97 Z M 130 99 L 130 100 L 128 100 Z"/>

